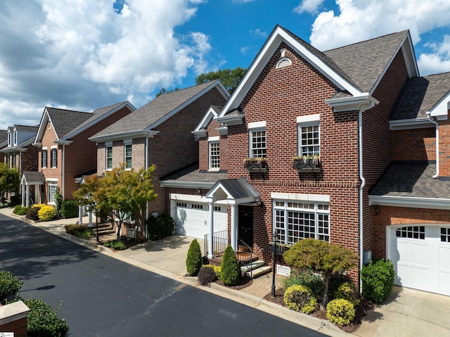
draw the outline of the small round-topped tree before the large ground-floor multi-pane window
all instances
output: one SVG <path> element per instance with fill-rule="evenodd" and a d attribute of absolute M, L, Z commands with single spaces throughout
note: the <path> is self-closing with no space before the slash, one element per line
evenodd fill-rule
<path fill-rule="evenodd" d="M 303 239 L 295 243 L 283 258 L 297 269 L 312 269 L 325 279 L 322 307 L 328 304 L 328 284 L 333 273 L 345 272 L 358 265 L 359 257 L 348 248 L 315 239 Z"/>

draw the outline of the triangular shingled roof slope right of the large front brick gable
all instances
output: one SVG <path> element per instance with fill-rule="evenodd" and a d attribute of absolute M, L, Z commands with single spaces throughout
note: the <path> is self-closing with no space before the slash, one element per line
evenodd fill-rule
<path fill-rule="evenodd" d="M 371 91 L 388 63 L 399 49 L 408 30 L 388 34 L 323 53 L 334 61 L 364 92 Z M 330 65 L 331 66 L 331 65 Z"/>

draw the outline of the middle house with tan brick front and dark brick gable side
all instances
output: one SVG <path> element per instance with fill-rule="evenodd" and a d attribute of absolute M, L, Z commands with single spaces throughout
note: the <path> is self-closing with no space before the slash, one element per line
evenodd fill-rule
<path fill-rule="evenodd" d="M 160 177 L 198 163 L 191 131 L 211 105 L 224 105 L 229 93 L 219 80 L 162 94 L 89 139 L 97 144 L 97 174 L 122 163 L 136 170 L 155 165 L 155 201 L 148 212 L 166 210 Z M 94 143 L 93 143 L 94 144 Z"/>

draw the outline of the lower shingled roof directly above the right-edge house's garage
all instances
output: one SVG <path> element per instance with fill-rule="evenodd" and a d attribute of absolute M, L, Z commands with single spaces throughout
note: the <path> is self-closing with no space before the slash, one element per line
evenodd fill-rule
<path fill-rule="evenodd" d="M 450 181 L 432 179 L 436 165 L 392 165 L 370 196 L 450 198 Z"/>

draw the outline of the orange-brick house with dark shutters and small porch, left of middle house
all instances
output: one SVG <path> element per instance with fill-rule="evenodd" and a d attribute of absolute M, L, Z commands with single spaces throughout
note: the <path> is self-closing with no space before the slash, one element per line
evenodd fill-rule
<path fill-rule="evenodd" d="M 134 110 L 128 101 L 91 113 L 46 107 L 33 144 L 39 167 L 23 172 L 23 205 L 30 205 L 31 194 L 34 203 L 53 204 L 57 189 L 71 200 L 76 177 L 96 170 L 97 148 L 88 138 Z"/>

